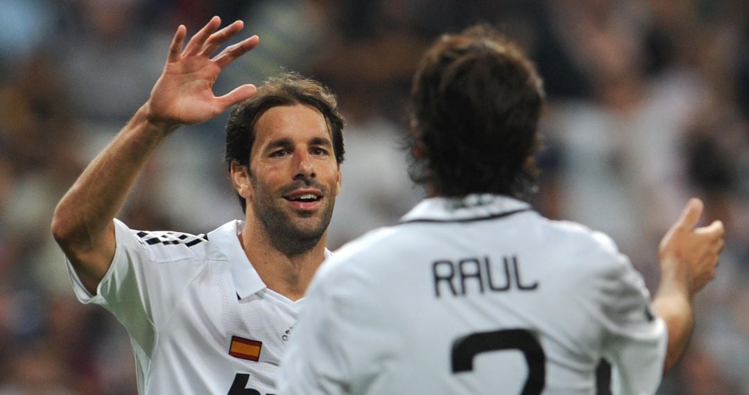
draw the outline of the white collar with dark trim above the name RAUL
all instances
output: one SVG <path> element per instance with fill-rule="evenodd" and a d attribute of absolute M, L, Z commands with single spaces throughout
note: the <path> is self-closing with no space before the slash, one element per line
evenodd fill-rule
<path fill-rule="evenodd" d="M 429 197 L 401 217 L 408 222 L 464 222 L 498 218 L 530 211 L 529 203 L 512 197 L 472 194 L 465 197 Z"/>

